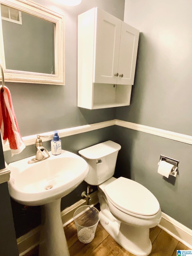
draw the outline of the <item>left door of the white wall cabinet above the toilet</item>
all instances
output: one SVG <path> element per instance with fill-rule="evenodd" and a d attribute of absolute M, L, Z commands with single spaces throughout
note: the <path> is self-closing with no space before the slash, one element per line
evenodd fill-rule
<path fill-rule="evenodd" d="M 93 83 L 117 83 L 122 21 L 96 8 Z"/>

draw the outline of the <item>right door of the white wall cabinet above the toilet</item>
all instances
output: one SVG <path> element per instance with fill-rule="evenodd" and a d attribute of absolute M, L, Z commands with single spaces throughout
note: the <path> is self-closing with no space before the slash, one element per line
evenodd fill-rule
<path fill-rule="evenodd" d="M 139 30 L 122 22 L 117 84 L 134 84 L 138 42 Z"/>

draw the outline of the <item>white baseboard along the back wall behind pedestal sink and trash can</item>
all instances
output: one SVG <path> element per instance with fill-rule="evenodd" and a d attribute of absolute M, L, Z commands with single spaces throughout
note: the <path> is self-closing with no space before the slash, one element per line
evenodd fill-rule
<path fill-rule="evenodd" d="M 98 201 L 97 196 L 98 191 L 93 192 L 90 194 L 91 198 L 91 204 L 92 206 L 96 205 Z M 72 206 L 67 207 L 61 212 L 61 219 L 63 222 L 63 227 L 69 224 L 71 221 L 73 221 L 73 214 L 76 211 L 77 208 L 80 206 L 86 205 L 87 201 L 84 199 L 79 200 L 78 202 L 74 203 Z M 40 230 L 41 225 L 30 230 L 25 235 L 19 237 L 17 239 L 17 247 L 19 250 L 19 256 L 25 255 L 28 251 L 31 251 L 33 248 L 35 248 L 40 241 Z"/>

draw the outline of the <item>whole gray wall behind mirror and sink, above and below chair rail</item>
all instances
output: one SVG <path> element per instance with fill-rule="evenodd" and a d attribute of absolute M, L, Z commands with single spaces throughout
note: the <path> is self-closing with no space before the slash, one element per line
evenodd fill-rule
<path fill-rule="evenodd" d="M 123 20 L 125 0 L 82 0 L 76 7 L 65 7 L 55 1 L 36 0 L 53 11 L 65 16 L 65 86 L 6 83 L 10 89 L 21 136 L 41 134 L 79 125 L 112 120 L 116 109 L 86 110 L 77 107 L 77 16 L 93 7 Z M 62 149 L 74 153 L 82 148 L 114 139 L 114 127 L 62 138 Z M 34 141 L 35 143 L 35 141 Z M 50 141 L 44 146 L 50 150 Z M 27 146 L 22 153 L 11 157 L 10 151 L 4 152 L 7 163 L 35 154 L 34 146 Z M 61 210 L 81 199 L 87 184 L 82 182 L 78 188 L 61 200 Z M 16 236 L 19 237 L 41 222 L 40 208 L 28 207 L 11 200 Z"/>

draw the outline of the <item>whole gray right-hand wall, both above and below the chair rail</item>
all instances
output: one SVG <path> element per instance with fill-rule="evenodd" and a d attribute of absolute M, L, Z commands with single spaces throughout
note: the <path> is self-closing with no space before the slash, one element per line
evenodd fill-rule
<path fill-rule="evenodd" d="M 190 0 L 125 1 L 125 22 L 140 41 L 131 105 L 117 108 L 117 119 L 192 135 L 191 9 Z M 164 213 L 192 229 L 192 146 L 122 127 L 116 136 L 116 176 L 149 188 Z M 176 179 L 157 173 L 161 154 L 180 161 Z"/>

